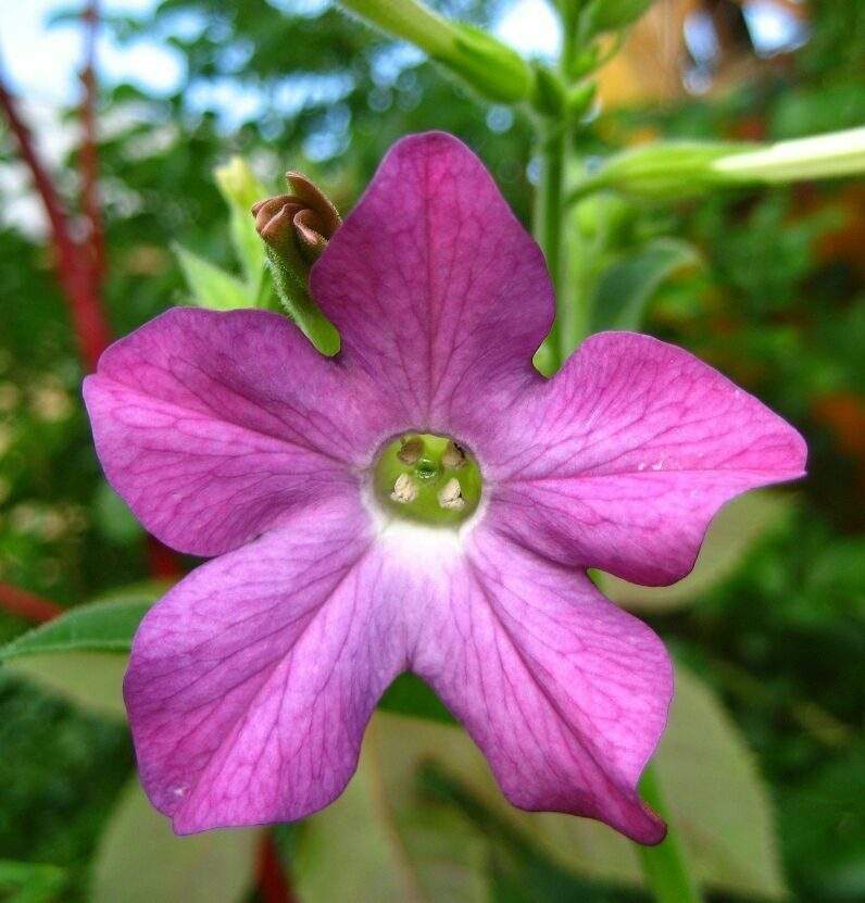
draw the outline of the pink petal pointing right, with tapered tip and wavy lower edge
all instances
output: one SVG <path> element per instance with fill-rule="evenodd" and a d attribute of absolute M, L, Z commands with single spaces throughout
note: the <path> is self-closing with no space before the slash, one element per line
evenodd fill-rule
<path fill-rule="evenodd" d="M 539 553 L 637 584 L 681 579 L 725 502 L 804 474 L 788 423 L 648 336 L 592 336 L 525 409 L 525 447 L 497 465 L 488 517 Z"/>

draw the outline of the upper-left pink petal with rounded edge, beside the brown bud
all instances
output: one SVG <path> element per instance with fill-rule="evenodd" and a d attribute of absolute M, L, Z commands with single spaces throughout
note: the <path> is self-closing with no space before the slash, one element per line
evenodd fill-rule
<path fill-rule="evenodd" d="M 285 317 L 174 309 L 115 342 L 84 396 L 105 475 L 138 518 L 216 555 L 354 491 L 347 462 L 376 434 L 364 391 Z"/>

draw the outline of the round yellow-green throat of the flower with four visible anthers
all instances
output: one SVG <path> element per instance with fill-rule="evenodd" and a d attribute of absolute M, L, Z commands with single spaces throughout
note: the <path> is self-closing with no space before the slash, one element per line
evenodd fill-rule
<path fill-rule="evenodd" d="M 457 526 L 480 501 L 480 471 L 453 439 L 409 432 L 375 464 L 375 493 L 390 514 L 430 526 Z"/>

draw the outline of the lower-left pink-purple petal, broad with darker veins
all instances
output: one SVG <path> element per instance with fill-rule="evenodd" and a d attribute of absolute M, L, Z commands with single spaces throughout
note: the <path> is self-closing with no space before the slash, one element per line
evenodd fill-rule
<path fill-rule="evenodd" d="M 199 567 L 145 617 L 124 694 L 178 833 L 301 818 L 335 799 L 405 662 L 362 513 L 330 505 Z"/>

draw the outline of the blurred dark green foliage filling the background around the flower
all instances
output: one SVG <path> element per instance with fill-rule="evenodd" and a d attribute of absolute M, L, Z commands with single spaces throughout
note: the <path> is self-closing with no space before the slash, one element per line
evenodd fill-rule
<path fill-rule="evenodd" d="M 500 4 L 437 5 L 485 24 Z M 578 151 L 610 152 L 645 129 L 729 139 L 757 128 L 780 139 L 862 124 L 865 8 L 830 0 L 811 8 L 810 40 L 790 65 L 711 98 L 602 111 Z M 185 15 L 203 16 L 195 37 L 179 36 Z M 333 9 L 165 0 L 154 18 L 108 27 L 128 38 L 163 35 L 187 68 L 171 97 L 120 85 L 101 99 L 106 300 L 117 335 L 185 299 L 174 241 L 236 267 L 212 177 L 233 153 L 274 189 L 288 166 L 305 171 L 349 210 L 396 138 L 443 128 L 480 154 L 528 217 L 530 133 L 521 115 L 478 103 Z M 191 109 L 192 88 L 224 81 L 260 92 L 261 115 L 227 128 Z M 0 131 L 0 156 L 13 154 Z M 607 204 L 604 222 L 617 230 L 605 265 L 652 235 L 685 239 L 703 260 L 663 283 L 642 328 L 716 364 L 808 439 L 811 475 L 790 496 L 787 516 L 691 604 L 647 617 L 743 731 L 776 806 L 792 894 L 863 899 L 865 192 L 841 181 L 678 204 L 598 203 Z M 76 605 L 147 579 L 143 538 L 106 492 L 92 453 L 82 372 L 46 248 L 8 226 L 0 227 L 0 580 Z M 0 614 L 0 639 L 26 627 Z M 34 899 L 88 899 L 93 851 L 131 768 L 116 720 L 0 670 L 0 860 L 65 875 L 61 895 L 51 895 L 49 880 Z M 480 826 L 493 899 L 641 899 L 553 865 L 530 837 L 435 774 L 427 788 L 461 824 Z M 280 833 L 289 870 L 298 830 Z"/>

